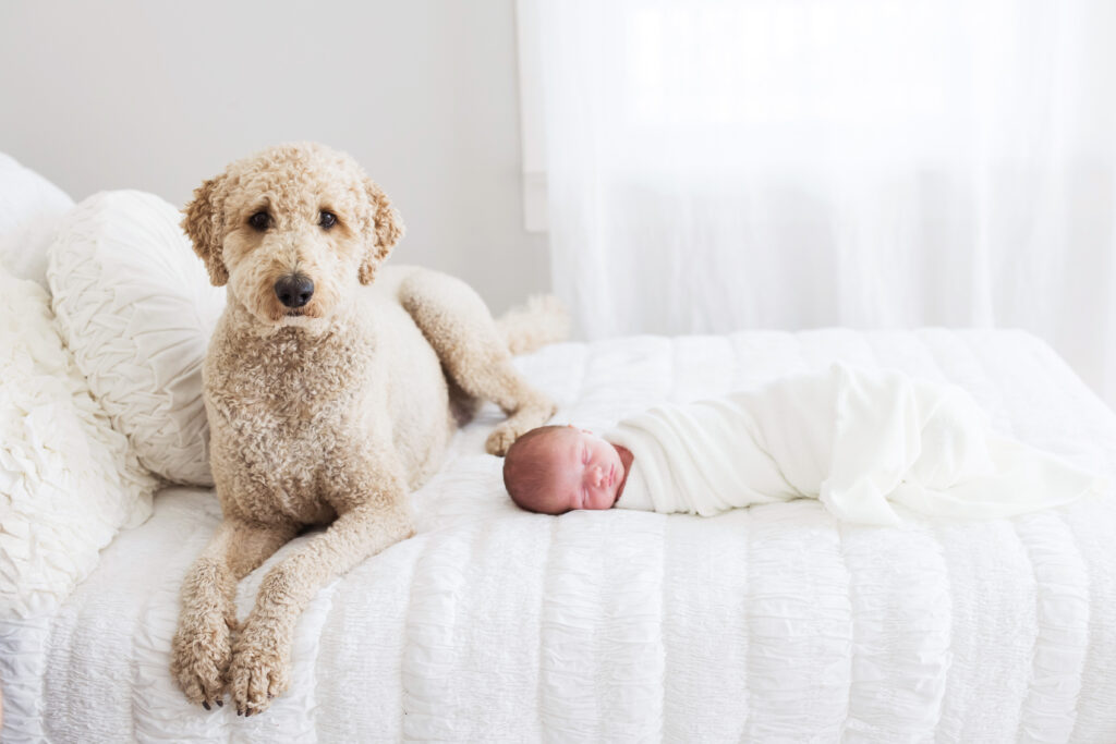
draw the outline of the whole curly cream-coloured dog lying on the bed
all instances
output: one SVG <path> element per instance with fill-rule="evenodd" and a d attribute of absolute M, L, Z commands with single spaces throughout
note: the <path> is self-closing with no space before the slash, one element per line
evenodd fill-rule
<path fill-rule="evenodd" d="M 554 404 L 512 367 L 562 334 L 538 303 L 501 335 L 464 283 L 384 268 L 403 224 L 347 155 L 282 145 L 204 182 L 183 228 L 228 306 L 203 370 L 223 520 L 187 572 L 171 671 L 210 709 L 244 715 L 289 684 L 295 624 L 320 587 L 414 533 L 407 497 L 437 468 L 480 398 L 508 415 L 502 455 Z M 275 566 L 248 619 L 237 582 L 307 525 L 328 524 Z"/>

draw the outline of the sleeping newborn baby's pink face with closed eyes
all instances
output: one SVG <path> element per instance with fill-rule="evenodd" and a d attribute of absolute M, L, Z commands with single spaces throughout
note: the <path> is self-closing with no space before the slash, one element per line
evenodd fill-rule
<path fill-rule="evenodd" d="M 569 509 L 612 509 L 624 482 L 624 463 L 616 447 L 573 426 L 549 439 L 540 454 L 552 473 L 547 501 Z"/>

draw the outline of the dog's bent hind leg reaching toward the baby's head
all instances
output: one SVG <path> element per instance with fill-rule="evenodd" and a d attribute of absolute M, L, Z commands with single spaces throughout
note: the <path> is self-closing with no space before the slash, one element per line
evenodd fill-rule
<path fill-rule="evenodd" d="M 398 297 L 451 380 L 508 414 L 485 443 L 491 454 L 502 456 L 521 434 L 554 415 L 555 404 L 511 364 L 511 352 L 488 307 L 469 284 L 421 269 L 401 283 Z"/>

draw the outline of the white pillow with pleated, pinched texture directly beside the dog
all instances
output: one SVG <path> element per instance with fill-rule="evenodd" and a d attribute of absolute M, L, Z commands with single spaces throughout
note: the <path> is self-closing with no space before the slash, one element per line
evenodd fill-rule
<path fill-rule="evenodd" d="M 201 367 L 224 290 L 158 196 L 94 194 L 61 220 L 47 277 L 66 344 L 140 462 L 212 485 Z"/>

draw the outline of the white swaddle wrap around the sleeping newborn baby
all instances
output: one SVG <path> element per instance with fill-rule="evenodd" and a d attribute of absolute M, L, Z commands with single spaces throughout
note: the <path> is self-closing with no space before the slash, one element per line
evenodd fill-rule
<path fill-rule="evenodd" d="M 664 513 L 814 497 L 841 520 L 898 524 L 889 502 L 932 516 L 1010 516 L 1101 485 L 993 434 L 959 387 L 839 364 L 652 408 L 604 438 L 635 457 L 616 506 Z"/>

